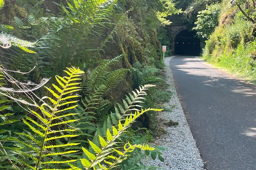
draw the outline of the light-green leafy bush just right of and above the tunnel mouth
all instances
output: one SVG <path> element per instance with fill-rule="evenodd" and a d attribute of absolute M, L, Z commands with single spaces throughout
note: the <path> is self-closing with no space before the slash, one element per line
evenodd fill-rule
<path fill-rule="evenodd" d="M 201 40 L 207 40 L 210 38 L 210 34 L 214 32 L 216 26 L 218 26 L 218 18 L 221 10 L 221 4 L 213 3 L 207 5 L 206 9 L 199 11 L 197 15 L 196 27 L 193 30 L 197 31 L 197 35 Z"/>

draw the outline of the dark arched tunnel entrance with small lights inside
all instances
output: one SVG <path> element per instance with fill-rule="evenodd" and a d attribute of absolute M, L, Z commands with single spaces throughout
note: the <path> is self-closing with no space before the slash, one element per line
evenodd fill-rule
<path fill-rule="evenodd" d="M 200 40 L 196 38 L 195 31 L 183 30 L 175 37 L 174 55 L 200 55 Z"/>

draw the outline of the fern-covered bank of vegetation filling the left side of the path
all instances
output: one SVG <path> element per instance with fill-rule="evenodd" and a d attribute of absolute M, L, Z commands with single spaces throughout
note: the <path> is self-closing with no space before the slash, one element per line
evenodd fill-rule
<path fill-rule="evenodd" d="M 0 0 L 0 169 L 164 161 L 145 127 L 171 96 L 161 41 L 180 12 L 172 0 Z"/>

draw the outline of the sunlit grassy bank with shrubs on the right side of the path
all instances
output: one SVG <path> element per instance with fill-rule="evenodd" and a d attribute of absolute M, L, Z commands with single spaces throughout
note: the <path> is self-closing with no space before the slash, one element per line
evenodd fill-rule
<path fill-rule="evenodd" d="M 230 0 L 223 0 L 220 5 L 220 11 L 204 17 L 218 14 L 212 32 L 205 32 L 209 36 L 205 36 L 206 45 L 202 56 L 214 66 L 255 82 L 255 3 L 251 0 L 233 1 L 232 4 Z"/>

